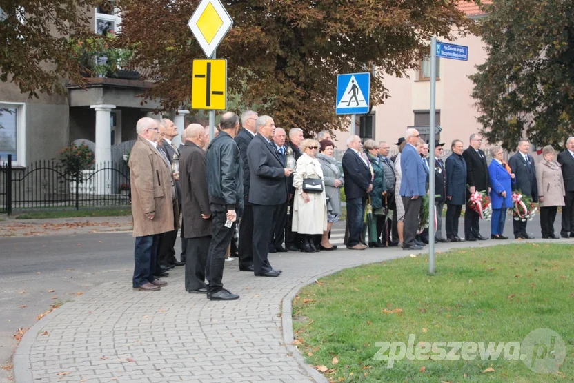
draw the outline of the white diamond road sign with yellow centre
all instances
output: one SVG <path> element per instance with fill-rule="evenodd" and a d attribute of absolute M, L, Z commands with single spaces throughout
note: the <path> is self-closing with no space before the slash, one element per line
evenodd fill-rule
<path fill-rule="evenodd" d="M 208 59 L 212 57 L 232 25 L 233 20 L 219 0 L 201 0 L 188 22 L 191 32 Z"/>

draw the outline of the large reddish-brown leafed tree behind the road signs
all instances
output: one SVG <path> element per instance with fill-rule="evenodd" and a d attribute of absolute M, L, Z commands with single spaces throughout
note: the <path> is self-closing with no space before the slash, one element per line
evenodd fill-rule
<path fill-rule="evenodd" d="M 199 0 L 119 0 L 126 44 L 141 43 L 132 63 L 157 81 L 146 97 L 175 110 L 188 105 L 192 59 L 204 58 L 186 26 Z M 468 31 L 457 0 L 228 0 L 232 30 L 217 50 L 228 60 L 228 92 L 262 106 L 278 126 L 337 129 L 338 73 L 377 68 L 403 77 L 428 52 L 431 36 Z M 371 104 L 389 97 L 371 79 Z M 235 110 L 239 112 L 240 110 Z"/>

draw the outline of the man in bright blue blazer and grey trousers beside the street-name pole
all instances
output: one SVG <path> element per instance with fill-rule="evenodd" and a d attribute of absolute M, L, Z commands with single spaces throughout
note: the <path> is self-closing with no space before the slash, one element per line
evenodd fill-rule
<path fill-rule="evenodd" d="M 419 131 L 408 128 L 404 139 L 406 145 L 401 153 L 399 190 L 404 205 L 403 250 L 420 250 L 422 246 L 415 244 L 415 236 L 419 228 L 422 197 L 426 195 L 426 171 L 416 147 L 420 139 Z"/>

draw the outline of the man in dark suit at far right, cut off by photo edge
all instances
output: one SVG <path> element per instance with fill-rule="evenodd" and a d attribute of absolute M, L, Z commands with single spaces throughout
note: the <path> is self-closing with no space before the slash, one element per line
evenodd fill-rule
<path fill-rule="evenodd" d="M 558 164 L 562 166 L 562 177 L 564 177 L 564 207 L 562 208 L 562 228 L 560 235 L 562 238 L 574 238 L 574 137 L 569 137 L 566 141 L 566 150 L 558 155 Z"/>

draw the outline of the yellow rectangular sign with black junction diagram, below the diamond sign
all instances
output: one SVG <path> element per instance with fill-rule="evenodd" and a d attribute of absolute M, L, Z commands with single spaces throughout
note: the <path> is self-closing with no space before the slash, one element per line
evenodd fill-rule
<path fill-rule="evenodd" d="M 226 59 L 193 60 L 193 74 L 191 80 L 191 107 L 193 109 L 226 109 Z"/>

